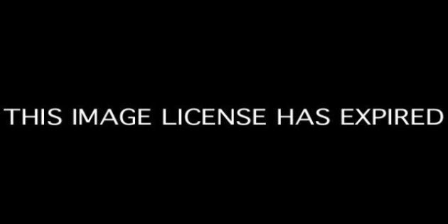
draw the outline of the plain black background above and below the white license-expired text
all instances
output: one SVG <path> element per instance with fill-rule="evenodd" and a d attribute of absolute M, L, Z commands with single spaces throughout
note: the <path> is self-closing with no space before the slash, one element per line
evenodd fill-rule
<path fill-rule="evenodd" d="M 21 7 L 4 16 L 2 108 L 446 111 L 437 7 Z M 438 213 L 445 123 L 341 127 L 332 119 L 328 127 L 3 122 L 4 195 L 9 210 L 46 210 L 39 216 Z"/>

